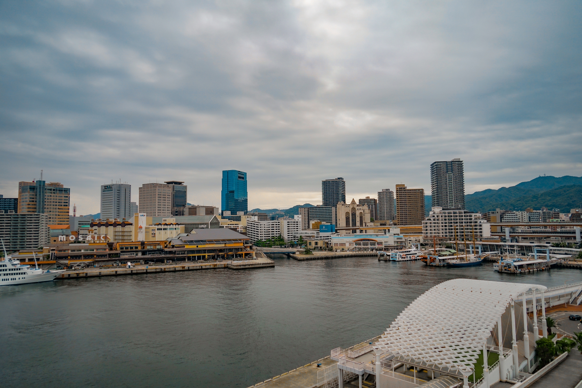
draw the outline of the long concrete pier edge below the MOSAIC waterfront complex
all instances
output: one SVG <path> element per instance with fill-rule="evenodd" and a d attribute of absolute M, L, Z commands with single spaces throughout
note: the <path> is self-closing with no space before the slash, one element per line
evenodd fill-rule
<path fill-rule="evenodd" d="M 80 277 L 92 276 L 118 276 L 118 275 L 138 275 L 141 273 L 168 273 L 183 270 L 198 270 L 212 268 L 249 269 L 274 267 L 275 262 L 269 258 L 259 258 L 253 260 L 229 260 L 215 262 L 182 262 L 176 264 L 158 265 L 136 265 L 132 268 L 119 267 L 87 267 L 79 270 L 68 270 L 57 276 L 55 280 L 79 279 Z"/>

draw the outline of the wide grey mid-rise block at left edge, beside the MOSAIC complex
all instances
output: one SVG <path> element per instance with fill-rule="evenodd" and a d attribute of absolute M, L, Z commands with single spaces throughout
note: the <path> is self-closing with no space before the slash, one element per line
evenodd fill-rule
<path fill-rule="evenodd" d="M 0 211 L 0 239 L 4 241 L 6 251 L 10 253 L 21 249 L 37 249 L 48 244 L 48 217 L 45 213 L 18 214 Z"/>

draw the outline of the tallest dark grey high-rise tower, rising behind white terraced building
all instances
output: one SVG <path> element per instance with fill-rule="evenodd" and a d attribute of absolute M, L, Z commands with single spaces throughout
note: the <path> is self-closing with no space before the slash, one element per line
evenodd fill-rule
<path fill-rule="evenodd" d="M 432 207 L 465 208 L 463 161 L 459 158 L 431 164 Z"/>

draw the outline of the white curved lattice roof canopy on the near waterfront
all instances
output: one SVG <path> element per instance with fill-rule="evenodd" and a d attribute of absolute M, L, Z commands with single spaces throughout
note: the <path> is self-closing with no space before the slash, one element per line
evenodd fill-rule
<path fill-rule="evenodd" d="M 510 301 L 530 289 L 545 290 L 546 287 L 474 279 L 448 280 L 432 287 L 404 309 L 374 348 L 411 364 L 469 376 L 498 318 Z"/>

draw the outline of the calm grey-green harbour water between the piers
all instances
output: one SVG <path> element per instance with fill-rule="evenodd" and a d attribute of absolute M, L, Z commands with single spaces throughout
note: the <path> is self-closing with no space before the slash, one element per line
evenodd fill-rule
<path fill-rule="evenodd" d="M 0 287 L 2 387 L 248 387 L 381 334 L 456 277 L 556 286 L 576 269 L 499 274 L 350 258 Z"/>

